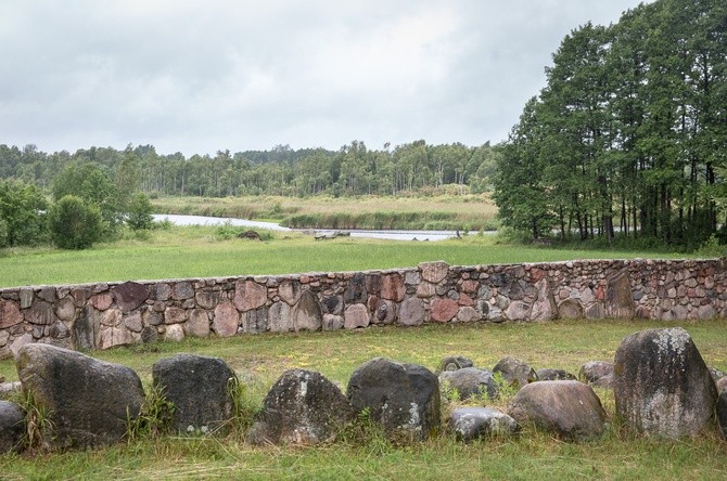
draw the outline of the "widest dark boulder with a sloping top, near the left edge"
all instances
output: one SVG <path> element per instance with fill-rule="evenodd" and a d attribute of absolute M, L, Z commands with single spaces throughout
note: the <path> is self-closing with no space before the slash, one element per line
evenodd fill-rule
<path fill-rule="evenodd" d="M 23 390 L 49 413 L 51 447 L 88 447 L 122 440 L 139 415 L 144 391 L 137 373 L 50 344 L 24 346 L 16 361 Z"/>

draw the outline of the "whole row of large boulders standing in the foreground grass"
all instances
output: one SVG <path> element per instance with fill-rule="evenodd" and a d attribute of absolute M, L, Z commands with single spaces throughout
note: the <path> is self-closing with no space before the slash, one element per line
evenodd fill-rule
<path fill-rule="evenodd" d="M 608 389 L 617 417 L 634 433 L 694 438 L 713 428 L 716 414 L 719 434 L 727 437 L 727 392 L 718 388 L 724 374 L 707 367 L 685 329 L 634 333 L 610 366 L 601 362 L 594 369 L 597 365 L 584 364 L 582 380 L 597 385 L 596 370 L 612 378 Z M 148 394 L 129 367 L 41 343 L 24 346 L 16 367 L 28 399 L 49 413 L 47 430 L 39 433 L 48 447 L 95 447 L 141 434 L 133 427 L 143 419 Z M 489 404 L 503 391 L 512 395 L 507 413 L 452 406 L 452 433 L 470 441 L 510 435 L 532 424 L 579 442 L 605 432 L 609 419 L 599 396 L 562 369 L 536 372 L 506 356 L 488 370 L 459 355 L 445 358 L 441 368 L 437 377 L 421 365 L 375 358 L 353 373 L 345 394 L 320 373 L 289 369 L 268 391 L 245 439 L 262 445 L 329 443 L 359 419 L 379 425 L 396 442 L 424 441 L 442 428 L 443 395 Z M 226 435 L 234 416 L 253 414 L 235 412 L 244 385 L 221 359 L 176 354 L 152 366 L 152 379 L 163 399 L 155 403 L 162 410 L 156 421 L 171 433 Z M 0 401 L 0 453 L 28 447 L 23 428 L 31 421 L 31 413 L 26 419 L 20 405 Z"/>

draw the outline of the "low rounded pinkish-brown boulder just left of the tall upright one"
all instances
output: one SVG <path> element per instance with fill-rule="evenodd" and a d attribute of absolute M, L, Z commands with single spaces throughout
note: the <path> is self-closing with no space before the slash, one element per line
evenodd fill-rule
<path fill-rule="evenodd" d="M 530 384 L 512 399 L 508 414 L 521 425 L 534 422 L 566 441 L 596 439 L 605 430 L 601 401 L 588 385 L 575 380 Z"/>

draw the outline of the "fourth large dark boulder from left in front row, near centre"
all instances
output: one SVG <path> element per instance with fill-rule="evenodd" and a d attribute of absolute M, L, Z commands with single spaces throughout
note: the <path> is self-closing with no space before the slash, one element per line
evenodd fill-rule
<path fill-rule="evenodd" d="M 390 438 L 425 440 L 439 428 L 439 382 L 423 366 L 372 359 L 350 376 L 346 396 Z"/>

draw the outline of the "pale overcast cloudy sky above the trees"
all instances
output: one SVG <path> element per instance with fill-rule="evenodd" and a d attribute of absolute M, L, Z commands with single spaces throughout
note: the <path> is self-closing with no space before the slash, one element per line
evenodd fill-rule
<path fill-rule="evenodd" d="M 507 139 L 572 29 L 637 0 L 0 0 L 0 144 Z"/>

